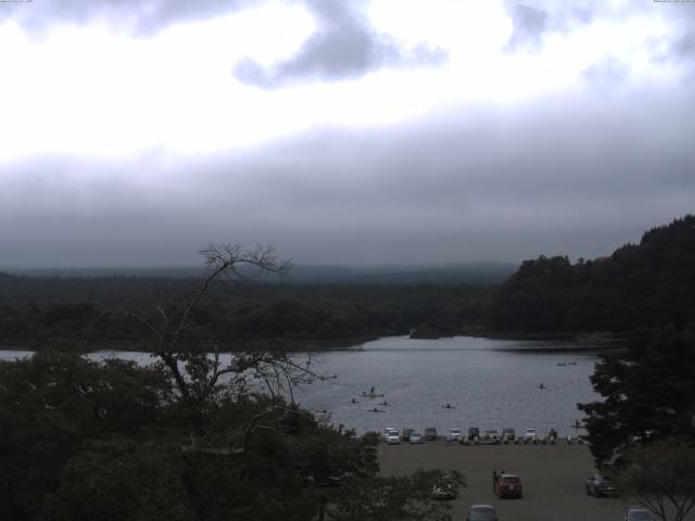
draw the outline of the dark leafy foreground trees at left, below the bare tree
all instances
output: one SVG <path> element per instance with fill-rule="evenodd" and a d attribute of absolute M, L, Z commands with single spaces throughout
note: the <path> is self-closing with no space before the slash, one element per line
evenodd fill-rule
<path fill-rule="evenodd" d="M 74 353 L 1 363 L 0 519 L 308 520 L 323 484 L 378 470 L 375 440 L 230 391 L 193 404 L 162 366 Z"/>

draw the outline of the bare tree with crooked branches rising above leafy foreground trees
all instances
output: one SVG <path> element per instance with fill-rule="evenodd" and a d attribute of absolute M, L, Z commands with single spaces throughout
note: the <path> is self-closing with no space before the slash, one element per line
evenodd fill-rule
<path fill-rule="evenodd" d="M 274 246 L 247 250 L 240 244 L 210 244 L 200 254 L 205 258 L 205 271 L 182 307 L 172 309 L 157 304 L 149 312 L 121 312 L 150 331 L 152 355 L 169 372 L 180 399 L 192 404 L 205 401 L 220 389 L 220 379 L 227 376 L 227 387 L 241 390 L 255 381 L 265 385 L 274 398 L 287 390 L 293 401 L 296 384 L 321 379 L 312 370 L 309 356 L 300 361 L 269 343 L 256 343 L 223 366 L 217 344 L 200 342 L 193 320 L 195 308 L 216 282 L 238 284 L 260 276 L 282 277 L 291 264 L 279 260 Z"/>

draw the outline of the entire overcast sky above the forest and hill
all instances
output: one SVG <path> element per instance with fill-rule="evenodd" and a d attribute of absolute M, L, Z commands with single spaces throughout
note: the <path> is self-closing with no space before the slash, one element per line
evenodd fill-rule
<path fill-rule="evenodd" d="M 0 2 L 0 267 L 592 258 L 694 211 L 695 3 Z"/>

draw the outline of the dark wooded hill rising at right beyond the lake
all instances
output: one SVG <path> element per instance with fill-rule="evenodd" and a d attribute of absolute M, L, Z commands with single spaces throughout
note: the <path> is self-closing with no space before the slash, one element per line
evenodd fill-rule
<path fill-rule="evenodd" d="M 695 216 L 644 233 L 609 257 L 526 260 L 492 303 L 508 332 L 630 331 L 695 325 Z"/>

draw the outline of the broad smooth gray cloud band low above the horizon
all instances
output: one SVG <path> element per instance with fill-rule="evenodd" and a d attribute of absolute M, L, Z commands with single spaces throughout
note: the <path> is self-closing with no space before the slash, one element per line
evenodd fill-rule
<path fill-rule="evenodd" d="M 693 212 L 686 92 L 447 107 L 203 158 L 0 167 L 0 267 L 195 264 L 210 241 L 300 263 L 610 253 Z"/>

